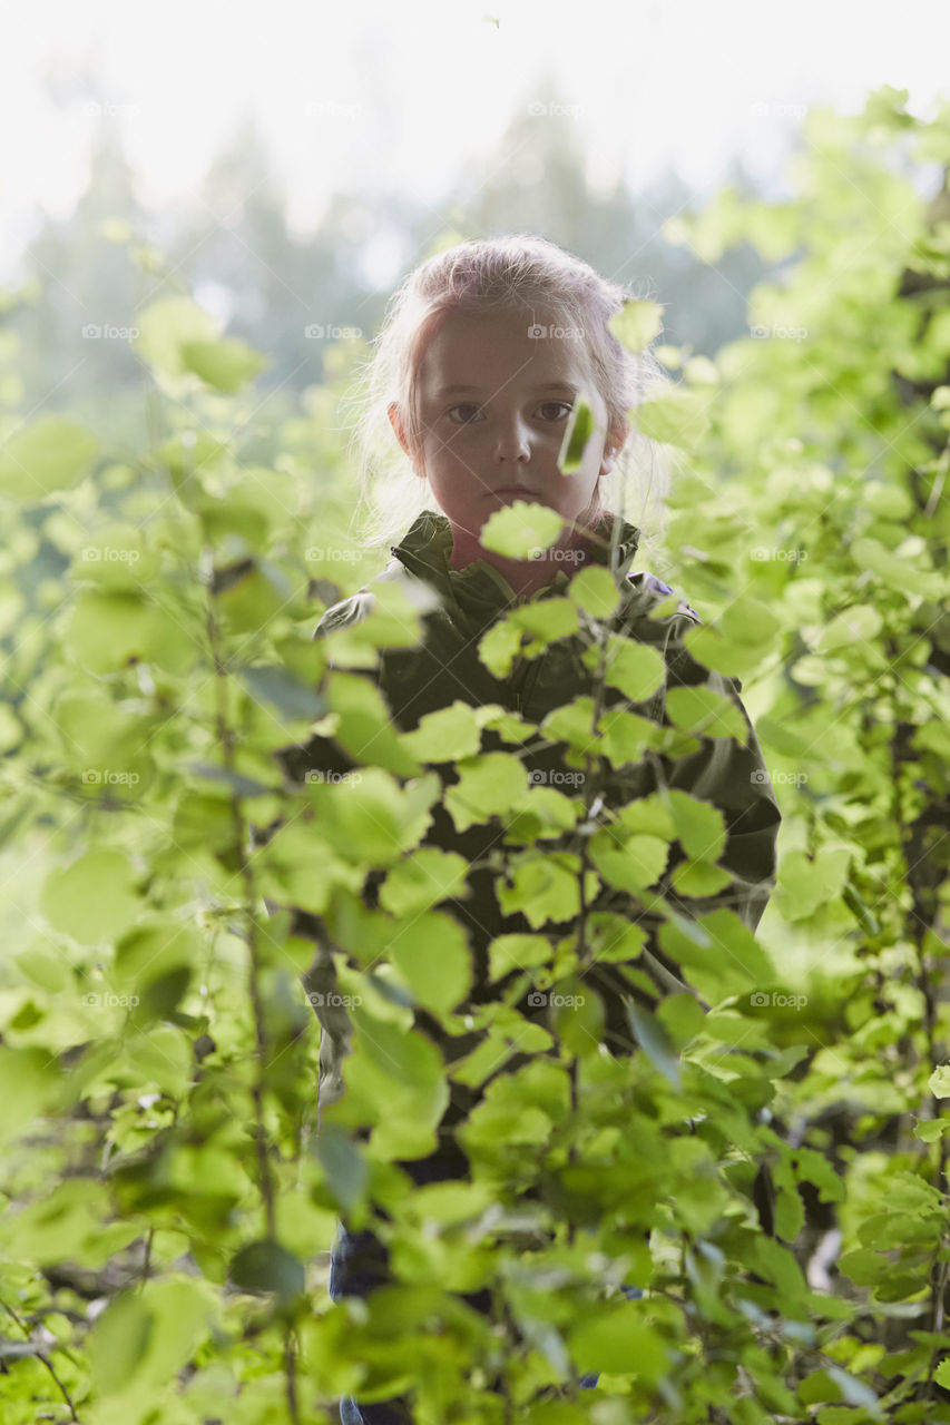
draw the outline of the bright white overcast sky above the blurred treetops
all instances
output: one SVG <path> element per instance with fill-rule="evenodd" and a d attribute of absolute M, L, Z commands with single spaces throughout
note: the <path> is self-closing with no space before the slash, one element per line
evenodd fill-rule
<path fill-rule="evenodd" d="M 40 209 L 70 212 L 103 124 L 174 219 L 257 114 L 305 232 L 337 188 L 435 202 L 464 168 L 484 177 L 545 68 L 576 111 L 535 121 L 579 131 L 595 182 L 673 165 L 709 190 L 740 154 L 777 192 L 803 107 L 853 113 L 892 84 L 929 117 L 947 53 L 946 0 L 31 0 L 0 50 L 0 275 Z"/>

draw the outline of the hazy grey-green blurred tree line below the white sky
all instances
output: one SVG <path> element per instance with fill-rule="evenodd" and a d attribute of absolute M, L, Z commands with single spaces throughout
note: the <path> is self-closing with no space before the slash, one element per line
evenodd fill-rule
<path fill-rule="evenodd" d="M 551 78 L 533 93 L 542 105 L 563 100 Z M 118 123 L 103 117 L 74 212 L 44 219 L 24 251 L 19 289 L 3 296 L 0 309 L 16 335 L 6 346 L 0 399 L 7 410 L 68 409 L 134 445 L 144 372 L 128 339 L 107 333 L 136 326 L 141 308 L 178 291 L 221 316 L 230 335 L 268 353 L 272 365 L 258 393 L 275 399 L 270 413 L 278 420 L 297 409 L 305 388 L 324 382 L 332 329 L 355 326 L 369 341 L 395 284 L 446 228 L 459 238 L 542 232 L 660 301 L 665 339 L 699 353 L 713 355 L 743 335 L 746 294 L 767 269 L 756 249 L 740 244 L 710 265 L 673 247 L 663 222 L 702 207 L 699 192 L 675 172 L 639 192 L 619 181 L 612 191 L 595 190 L 576 124 L 539 118 L 532 107 L 519 105 L 479 168 L 462 167 L 438 208 L 397 191 L 337 192 L 305 237 L 288 224 L 285 194 L 252 117 L 177 214 L 143 207 Z M 729 187 L 755 195 L 739 161 Z M 379 285 L 369 272 L 382 239 L 397 261 Z M 314 326 L 328 335 L 308 336 Z"/>

